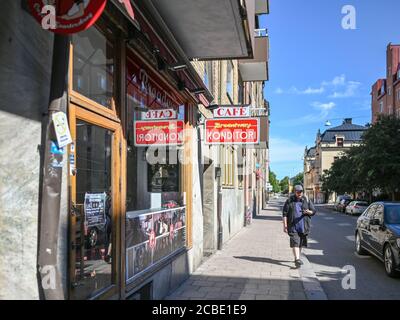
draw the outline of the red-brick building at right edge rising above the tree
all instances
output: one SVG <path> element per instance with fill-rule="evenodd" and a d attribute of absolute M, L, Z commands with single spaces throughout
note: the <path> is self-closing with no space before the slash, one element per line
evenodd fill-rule
<path fill-rule="evenodd" d="M 386 78 L 372 86 L 372 123 L 380 114 L 400 118 L 400 45 L 389 44 L 386 49 Z"/>

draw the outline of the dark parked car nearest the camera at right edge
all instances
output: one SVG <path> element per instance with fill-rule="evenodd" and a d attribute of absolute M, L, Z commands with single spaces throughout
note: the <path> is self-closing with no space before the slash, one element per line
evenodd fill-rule
<path fill-rule="evenodd" d="M 370 253 L 385 265 L 390 277 L 400 271 L 400 203 L 375 202 L 357 220 L 355 246 L 358 254 Z"/>

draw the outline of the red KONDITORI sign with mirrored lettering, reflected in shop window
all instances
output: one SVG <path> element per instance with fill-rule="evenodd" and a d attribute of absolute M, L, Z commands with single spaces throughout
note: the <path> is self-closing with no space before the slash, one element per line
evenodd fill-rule
<path fill-rule="evenodd" d="M 135 121 L 135 146 L 169 146 L 183 144 L 181 120 Z"/>

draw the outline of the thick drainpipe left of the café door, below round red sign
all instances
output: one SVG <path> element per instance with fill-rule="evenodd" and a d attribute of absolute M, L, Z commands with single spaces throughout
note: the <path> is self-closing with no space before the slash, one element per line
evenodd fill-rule
<path fill-rule="evenodd" d="M 44 135 L 42 168 L 42 197 L 40 201 L 38 285 L 41 298 L 64 300 L 64 290 L 58 266 L 58 230 L 60 223 L 60 200 L 62 168 L 52 167 L 50 153 L 52 141 L 56 141 L 52 115 L 66 112 L 68 88 L 69 36 L 54 36 L 53 61 L 50 84 L 48 121 Z M 64 157 L 64 156 L 62 156 Z M 65 161 L 65 157 L 63 159 Z"/>

